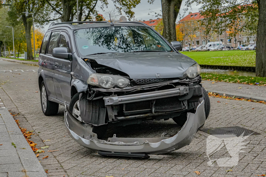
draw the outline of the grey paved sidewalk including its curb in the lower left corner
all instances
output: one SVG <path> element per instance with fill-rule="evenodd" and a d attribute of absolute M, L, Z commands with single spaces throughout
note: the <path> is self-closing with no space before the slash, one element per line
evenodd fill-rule
<path fill-rule="evenodd" d="M 6 108 L 0 108 L 0 177 L 45 177 L 45 171 Z"/>

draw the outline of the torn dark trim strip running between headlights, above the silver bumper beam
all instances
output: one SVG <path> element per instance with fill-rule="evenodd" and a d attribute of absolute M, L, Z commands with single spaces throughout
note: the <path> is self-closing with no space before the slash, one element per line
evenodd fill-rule
<path fill-rule="evenodd" d="M 136 85 L 133 87 L 125 87 L 125 88 L 110 88 L 110 89 L 92 88 L 92 90 L 101 91 L 101 92 L 125 92 L 125 91 L 132 91 L 132 90 L 136 90 L 136 89 L 156 87 L 156 86 L 165 85 L 165 84 L 172 84 L 172 83 L 188 83 L 189 84 L 189 83 L 193 83 L 196 81 L 200 81 L 200 79 L 201 79 L 201 77 L 197 76 L 194 79 L 176 79 L 176 80 L 170 80 L 170 81 L 165 81 L 165 82 L 160 82 L 160 83 Z M 179 86 L 179 87 L 182 87 L 182 86 Z"/>

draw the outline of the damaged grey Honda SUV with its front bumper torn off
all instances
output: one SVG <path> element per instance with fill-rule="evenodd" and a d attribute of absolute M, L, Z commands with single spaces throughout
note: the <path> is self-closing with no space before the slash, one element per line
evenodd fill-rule
<path fill-rule="evenodd" d="M 39 55 L 43 113 L 55 115 L 64 105 L 69 135 L 103 155 L 182 148 L 204 125 L 210 100 L 199 64 L 181 49 L 141 22 L 52 23 Z M 170 138 L 103 139 L 110 124 L 162 119 L 173 119 L 181 130 Z"/>

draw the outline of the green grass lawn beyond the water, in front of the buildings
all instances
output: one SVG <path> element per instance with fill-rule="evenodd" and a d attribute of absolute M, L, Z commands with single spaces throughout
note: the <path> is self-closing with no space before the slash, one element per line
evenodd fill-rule
<path fill-rule="evenodd" d="M 256 64 L 255 50 L 181 52 L 199 64 L 221 66 L 252 66 Z"/>

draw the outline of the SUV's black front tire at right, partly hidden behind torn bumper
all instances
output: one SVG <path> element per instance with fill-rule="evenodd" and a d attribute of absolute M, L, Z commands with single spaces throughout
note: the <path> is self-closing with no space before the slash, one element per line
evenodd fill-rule
<path fill-rule="evenodd" d="M 203 98 L 200 99 L 200 101 L 202 101 L 203 99 L 204 99 L 205 116 L 206 116 L 206 119 L 207 119 L 209 114 L 210 114 L 211 104 L 210 104 L 209 95 L 208 95 L 207 91 L 204 88 L 203 88 Z M 195 102 L 195 106 L 197 104 L 198 104 L 198 102 Z M 190 110 L 190 111 L 192 112 L 193 110 Z M 180 127 L 182 127 L 186 123 L 187 114 L 190 111 L 181 113 L 178 117 L 174 117 L 173 118 L 174 122 L 176 122 Z"/>

